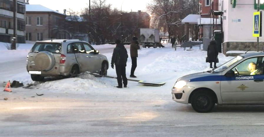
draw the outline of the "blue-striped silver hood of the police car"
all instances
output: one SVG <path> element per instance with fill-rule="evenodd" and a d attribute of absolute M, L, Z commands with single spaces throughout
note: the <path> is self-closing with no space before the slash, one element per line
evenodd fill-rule
<path fill-rule="evenodd" d="M 189 75 L 185 75 L 181 78 L 179 78 L 177 81 L 192 81 L 197 78 L 203 78 L 207 76 L 214 76 L 214 75 L 220 75 L 221 73 L 209 73 L 210 71 L 205 71 L 205 72 L 199 72 L 199 73 L 193 73 Z"/>

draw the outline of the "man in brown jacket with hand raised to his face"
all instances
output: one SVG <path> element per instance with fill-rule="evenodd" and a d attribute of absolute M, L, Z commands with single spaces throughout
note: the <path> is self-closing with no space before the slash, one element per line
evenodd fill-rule
<path fill-rule="evenodd" d="M 131 56 L 131 61 L 132 61 L 131 73 L 130 73 L 131 78 L 136 78 L 136 76 L 134 75 L 134 72 L 137 67 L 138 49 L 140 49 L 139 43 L 137 40 L 138 40 L 137 37 L 133 37 L 132 42 L 130 44 L 130 56 Z"/>

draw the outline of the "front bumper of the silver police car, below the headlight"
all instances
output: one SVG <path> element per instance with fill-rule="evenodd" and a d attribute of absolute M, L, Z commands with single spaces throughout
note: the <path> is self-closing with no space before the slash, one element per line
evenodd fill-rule
<path fill-rule="evenodd" d="M 172 88 L 172 100 L 178 103 L 188 104 L 189 96 L 194 89 L 195 88 L 191 86 L 184 86 L 181 89 Z"/>

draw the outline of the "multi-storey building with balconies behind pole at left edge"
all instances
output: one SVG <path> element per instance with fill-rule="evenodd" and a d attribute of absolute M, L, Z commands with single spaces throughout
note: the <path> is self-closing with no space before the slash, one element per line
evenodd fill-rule
<path fill-rule="evenodd" d="M 17 0 L 16 35 L 18 43 L 25 43 L 25 0 Z M 0 42 L 11 42 L 13 30 L 13 0 L 0 0 Z"/>

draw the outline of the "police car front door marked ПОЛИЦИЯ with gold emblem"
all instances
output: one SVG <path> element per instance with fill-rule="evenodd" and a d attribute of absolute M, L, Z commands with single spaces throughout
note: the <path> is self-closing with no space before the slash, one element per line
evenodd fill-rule
<path fill-rule="evenodd" d="M 235 76 L 221 80 L 221 97 L 223 102 L 260 102 L 264 101 L 264 75 L 251 75 L 250 63 L 257 64 L 263 72 L 263 57 L 253 57 L 241 62 L 232 70 Z"/>

